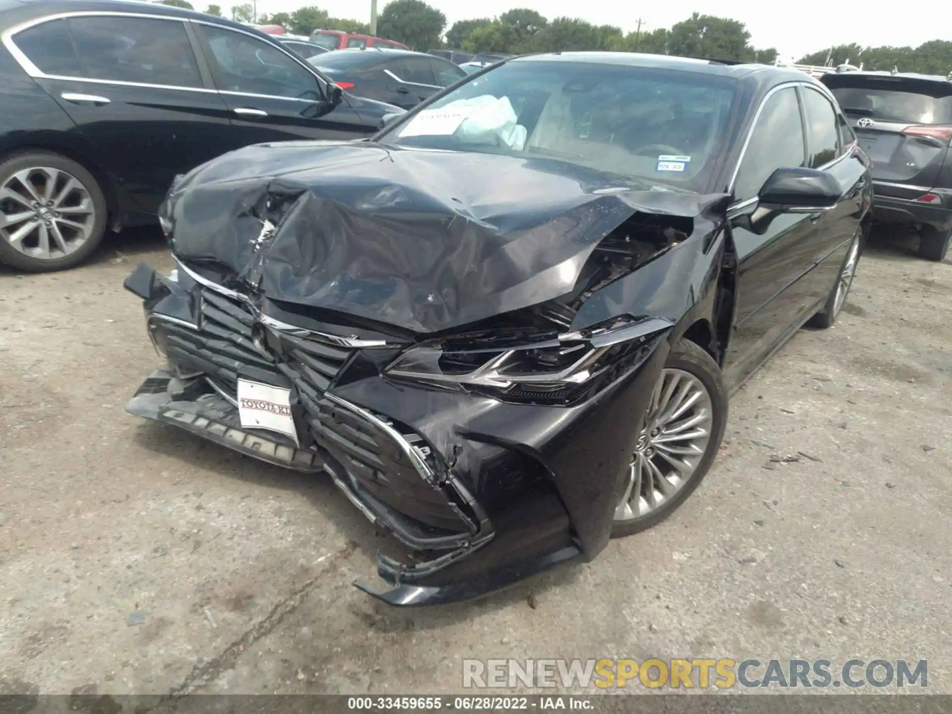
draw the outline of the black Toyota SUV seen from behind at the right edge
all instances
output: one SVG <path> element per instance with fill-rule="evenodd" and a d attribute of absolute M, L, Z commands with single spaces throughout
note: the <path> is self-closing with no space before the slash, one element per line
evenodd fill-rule
<path fill-rule="evenodd" d="M 919 254 L 940 261 L 952 242 L 952 81 L 849 71 L 821 78 L 873 160 L 873 217 L 919 233 Z"/>

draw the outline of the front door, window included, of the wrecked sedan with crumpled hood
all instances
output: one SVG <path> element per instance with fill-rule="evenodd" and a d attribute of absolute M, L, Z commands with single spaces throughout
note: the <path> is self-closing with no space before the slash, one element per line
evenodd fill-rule
<path fill-rule="evenodd" d="M 815 264 L 817 219 L 768 211 L 757 201 L 776 169 L 805 165 L 798 92 L 795 85 L 782 86 L 764 97 L 737 165 L 735 202 L 728 209 L 738 270 L 725 371 L 735 386 L 799 327 L 815 303 L 808 276 Z"/>

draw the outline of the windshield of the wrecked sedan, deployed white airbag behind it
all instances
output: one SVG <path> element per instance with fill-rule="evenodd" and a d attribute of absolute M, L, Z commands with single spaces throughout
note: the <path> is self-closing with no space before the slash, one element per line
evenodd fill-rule
<path fill-rule="evenodd" d="M 516 60 L 470 79 L 380 141 L 553 158 L 702 191 L 736 86 L 683 70 Z"/>

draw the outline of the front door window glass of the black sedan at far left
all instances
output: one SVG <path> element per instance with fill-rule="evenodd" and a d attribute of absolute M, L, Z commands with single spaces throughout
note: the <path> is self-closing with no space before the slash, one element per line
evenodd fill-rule
<path fill-rule="evenodd" d="M 205 26 L 222 91 L 292 99 L 320 99 L 317 78 L 287 54 L 242 32 Z"/>

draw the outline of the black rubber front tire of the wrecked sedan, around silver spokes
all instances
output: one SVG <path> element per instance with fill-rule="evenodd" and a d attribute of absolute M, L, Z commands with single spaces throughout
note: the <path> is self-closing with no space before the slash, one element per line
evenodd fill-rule
<path fill-rule="evenodd" d="M 687 375 L 692 379 L 685 380 L 683 375 Z M 693 470 L 681 480 L 682 483 L 680 486 L 675 486 L 675 490 L 666 495 L 663 501 L 652 506 L 646 512 L 633 514 L 631 518 L 621 519 L 619 517 L 621 515 L 620 511 L 623 509 L 625 501 L 628 502 L 629 508 L 633 513 L 634 506 L 631 501 L 633 500 L 635 505 L 642 508 L 644 506 L 641 502 L 646 502 L 646 499 L 642 497 L 642 493 L 647 493 L 644 478 L 641 479 L 641 487 L 639 488 L 637 499 L 634 496 L 634 487 L 632 486 L 629 490 L 629 486 L 627 486 L 627 483 L 633 483 L 635 479 L 632 478 L 631 481 L 625 479 L 625 493 L 619 496 L 619 507 L 615 512 L 615 520 L 613 520 L 611 525 L 612 538 L 621 538 L 633 533 L 638 533 L 664 521 L 664 519 L 677 510 L 678 507 L 684 503 L 684 500 L 691 495 L 694 489 L 701 484 L 711 464 L 714 463 L 714 459 L 721 447 L 721 441 L 724 439 L 724 428 L 727 424 L 727 388 L 724 386 L 724 376 L 721 373 L 720 367 L 717 366 L 717 363 L 714 362 L 711 356 L 707 354 L 702 347 L 695 345 L 693 342 L 681 340 L 668 354 L 667 361 L 664 363 L 664 371 L 655 387 L 654 396 L 652 396 L 651 407 L 648 407 L 648 419 L 652 416 L 652 407 L 655 401 L 659 399 L 659 396 L 662 399 L 664 398 L 666 390 L 670 388 L 670 380 L 676 376 L 679 377 L 679 380 L 684 381 L 675 383 L 673 394 L 667 404 L 676 404 L 671 400 L 677 399 L 685 384 L 704 387 L 706 402 L 704 402 L 704 399 L 699 399 L 684 415 L 678 416 L 676 421 L 669 423 L 667 426 L 674 428 L 683 425 L 685 422 L 694 421 L 700 415 L 700 409 L 697 408 L 697 406 L 701 405 L 707 413 L 707 419 L 680 433 L 681 435 L 685 435 L 696 429 L 706 429 L 708 432 L 706 441 L 703 447 L 697 446 L 696 441 L 692 441 L 692 444 L 695 444 L 695 448 L 700 449 L 700 451 L 696 456 L 691 454 L 689 457 L 685 457 L 685 460 L 682 462 L 684 464 L 686 458 L 690 458 L 693 462 L 691 465 Z M 664 407 L 665 408 L 660 410 L 662 414 L 669 410 L 666 405 L 664 405 Z M 677 409 L 674 409 L 674 411 L 677 411 Z M 678 472 L 677 469 L 671 466 L 670 462 L 664 459 L 662 450 L 664 448 L 670 448 L 675 444 L 684 445 L 686 442 L 666 441 L 664 443 L 656 443 L 653 441 L 654 438 L 670 439 L 670 436 L 660 433 L 657 437 L 653 437 L 652 432 L 646 433 L 643 431 L 642 438 L 639 439 L 639 445 L 632 455 L 632 466 L 625 467 L 625 476 L 633 476 L 636 474 L 638 470 L 635 464 L 639 463 L 640 457 L 643 460 L 646 458 L 651 463 L 660 465 L 657 466 L 657 468 L 658 472 L 662 473 L 661 478 L 664 479 L 664 483 L 666 483 L 667 486 L 672 486 L 668 478 L 671 476 L 678 476 L 680 478 L 683 472 Z M 678 447 L 685 448 L 685 446 Z M 639 449 L 642 450 L 639 451 Z M 654 452 L 653 455 L 652 451 Z M 668 477 L 665 478 L 663 471 L 667 468 L 671 468 L 672 470 L 670 474 L 668 474 Z M 641 473 L 646 473 L 646 471 L 643 470 Z M 660 483 L 662 482 L 658 481 L 657 476 L 652 477 L 652 485 Z M 660 492 L 659 489 L 653 490 L 655 493 Z M 629 494 L 631 494 L 630 498 L 625 498 Z"/>

